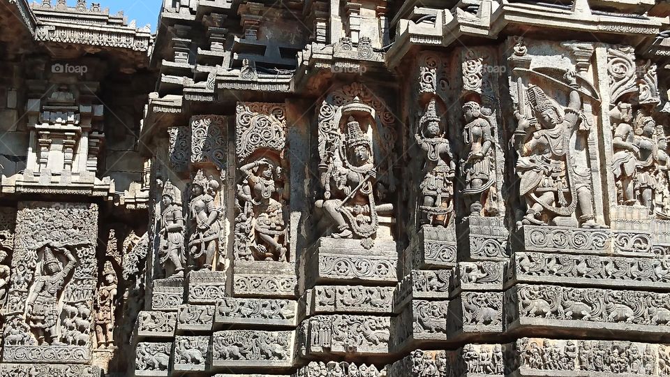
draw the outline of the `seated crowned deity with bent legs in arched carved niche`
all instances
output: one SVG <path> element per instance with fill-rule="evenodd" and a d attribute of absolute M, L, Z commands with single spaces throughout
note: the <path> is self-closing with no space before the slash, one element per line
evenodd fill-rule
<path fill-rule="evenodd" d="M 327 94 L 318 122 L 323 188 L 315 202 L 318 231 L 362 239 L 370 249 L 380 216 L 393 216 L 394 117 L 382 100 L 355 83 Z"/>

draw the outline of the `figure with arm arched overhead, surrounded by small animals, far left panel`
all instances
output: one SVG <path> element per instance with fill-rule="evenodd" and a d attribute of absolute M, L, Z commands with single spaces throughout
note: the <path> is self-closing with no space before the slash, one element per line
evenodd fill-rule
<path fill-rule="evenodd" d="M 64 288 L 68 274 L 77 265 L 72 252 L 61 244 L 49 242 L 43 246 L 42 274 L 35 283 L 27 300 L 26 318 L 40 345 L 62 345 L 57 336 L 59 322 L 58 298 Z M 54 252 L 63 253 L 68 259 L 62 266 Z"/>

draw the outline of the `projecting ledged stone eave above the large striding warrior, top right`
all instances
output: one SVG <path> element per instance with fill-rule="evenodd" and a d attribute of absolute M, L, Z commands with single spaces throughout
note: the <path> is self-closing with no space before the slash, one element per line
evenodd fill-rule
<path fill-rule="evenodd" d="M 590 13 L 590 11 L 589 11 Z M 573 12 L 567 8 L 547 8 L 528 3 L 504 3 L 491 15 L 491 36 L 497 36 L 513 24 L 560 29 L 593 34 L 628 34 L 639 37 L 656 36 L 668 17 L 646 17 Z"/>

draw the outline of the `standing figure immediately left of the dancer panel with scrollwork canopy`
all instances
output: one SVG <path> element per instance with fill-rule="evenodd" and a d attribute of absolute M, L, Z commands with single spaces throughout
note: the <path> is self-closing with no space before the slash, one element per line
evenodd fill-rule
<path fill-rule="evenodd" d="M 221 237 L 221 209 L 214 205 L 214 196 L 219 184 L 215 179 L 207 179 L 202 170 L 193 178 L 191 202 L 188 204 L 191 214 L 191 237 L 188 247 L 196 269 L 211 269 L 214 254 Z"/>

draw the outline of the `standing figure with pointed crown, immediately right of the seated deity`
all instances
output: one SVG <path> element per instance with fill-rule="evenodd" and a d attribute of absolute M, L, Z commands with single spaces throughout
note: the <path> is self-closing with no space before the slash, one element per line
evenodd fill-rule
<path fill-rule="evenodd" d="M 414 136 L 423 151 L 423 178 L 419 186 L 423 196 L 423 200 L 419 200 L 419 209 L 424 214 L 421 222 L 446 226 L 454 208 L 456 163 L 449 140 L 443 136 L 434 98 L 419 119 L 419 129 Z"/>

